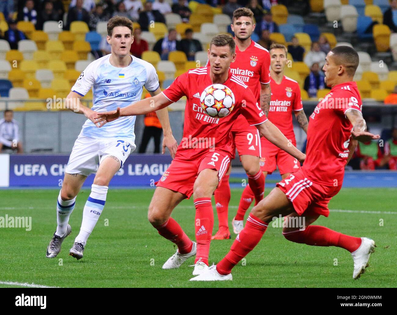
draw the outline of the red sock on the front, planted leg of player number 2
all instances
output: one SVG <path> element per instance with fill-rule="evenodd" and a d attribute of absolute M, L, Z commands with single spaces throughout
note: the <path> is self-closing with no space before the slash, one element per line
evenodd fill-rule
<path fill-rule="evenodd" d="M 251 213 L 243 231 L 233 242 L 230 252 L 216 265 L 216 270 L 221 275 L 231 273 L 231 269 L 259 243 L 267 227 L 268 223 L 256 218 Z"/>

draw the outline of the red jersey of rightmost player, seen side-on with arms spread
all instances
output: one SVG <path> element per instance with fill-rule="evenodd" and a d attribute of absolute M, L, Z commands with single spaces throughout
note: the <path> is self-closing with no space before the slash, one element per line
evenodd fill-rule
<path fill-rule="evenodd" d="M 349 109 L 360 112 L 362 109 L 356 82 L 335 85 L 309 118 L 306 160 L 302 169 L 315 183 L 342 185 L 353 128 L 346 118 Z"/>

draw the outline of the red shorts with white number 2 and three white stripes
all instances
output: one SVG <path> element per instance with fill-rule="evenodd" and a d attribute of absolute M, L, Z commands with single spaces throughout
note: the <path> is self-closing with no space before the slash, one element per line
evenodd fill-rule
<path fill-rule="evenodd" d="M 300 216 L 305 213 L 326 217 L 330 214 L 328 202 L 341 189 L 341 185 L 334 187 L 313 183 L 304 174 L 303 168 L 277 183 L 276 187 L 285 193 Z"/>

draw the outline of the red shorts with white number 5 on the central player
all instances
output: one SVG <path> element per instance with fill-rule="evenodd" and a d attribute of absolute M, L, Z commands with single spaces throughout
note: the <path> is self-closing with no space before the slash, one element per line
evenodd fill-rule
<path fill-rule="evenodd" d="M 178 155 L 172 160 L 170 167 L 164 172 L 157 187 L 164 187 L 178 191 L 190 198 L 193 195 L 193 186 L 198 174 L 209 168 L 218 172 L 219 183 L 229 168 L 230 158 L 227 153 L 220 150 L 206 152 L 195 160 L 184 160 Z"/>

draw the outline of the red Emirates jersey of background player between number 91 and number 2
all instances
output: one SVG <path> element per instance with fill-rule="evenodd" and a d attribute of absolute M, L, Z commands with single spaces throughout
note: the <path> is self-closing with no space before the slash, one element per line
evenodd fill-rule
<path fill-rule="evenodd" d="M 283 77 L 280 84 L 270 78 L 270 88 L 272 89 L 272 100 L 268 118 L 287 139 L 295 142 L 292 113 L 303 109 L 301 88 L 299 88 L 298 82 L 287 76 Z"/>

